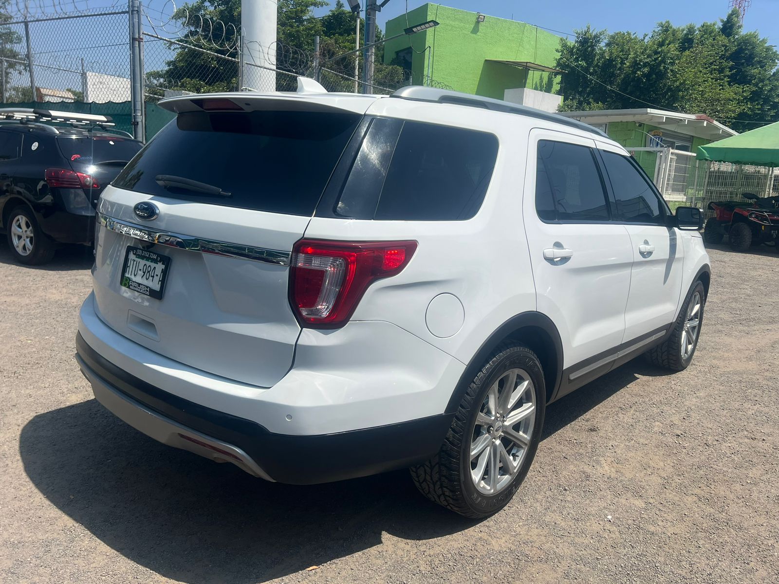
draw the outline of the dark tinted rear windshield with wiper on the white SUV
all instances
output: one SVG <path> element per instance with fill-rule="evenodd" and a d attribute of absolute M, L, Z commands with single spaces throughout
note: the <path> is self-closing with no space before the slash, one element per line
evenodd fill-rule
<path fill-rule="evenodd" d="M 360 119 L 359 114 L 322 111 L 178 114 L 114 185 L 188 201 L 312 215 Z M 221 195 L 214 195 L 213 187 Z"/>

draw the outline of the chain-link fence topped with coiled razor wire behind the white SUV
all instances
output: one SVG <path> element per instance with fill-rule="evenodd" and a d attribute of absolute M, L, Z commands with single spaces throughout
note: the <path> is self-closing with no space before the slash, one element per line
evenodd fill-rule
<path fill-rule="evenodd" d="M 150 138 L 172 118 L 157 102 L 185 92 L 294 91 L 298 76 L 331 92 L 386 94 L 413 83 L 401 67 L 376 62 L 365 86 L 361 51 L 340 55 L 343 44 L 324 37 L 314 46 L 246 43 L 240 23 L 171 0 L 0 0 L 0 99 L 110 115 L 118 129 Z"/>

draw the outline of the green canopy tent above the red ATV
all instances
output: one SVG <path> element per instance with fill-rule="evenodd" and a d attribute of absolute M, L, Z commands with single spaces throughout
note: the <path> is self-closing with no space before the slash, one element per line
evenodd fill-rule
<path fill-rule="evenodd" d="M 779 167 L 779 121 L 698 146 L 698 160 Z"/>

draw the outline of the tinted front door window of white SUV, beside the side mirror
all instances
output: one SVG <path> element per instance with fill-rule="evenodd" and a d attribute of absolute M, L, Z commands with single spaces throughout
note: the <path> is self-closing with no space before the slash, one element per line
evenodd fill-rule
<path fill-rule="evenodd" d="M 633 160 L 613 152 L 602 151 L 601 155 L 612 184 L 619 220 L 663 224 L 660 201 Z"/>

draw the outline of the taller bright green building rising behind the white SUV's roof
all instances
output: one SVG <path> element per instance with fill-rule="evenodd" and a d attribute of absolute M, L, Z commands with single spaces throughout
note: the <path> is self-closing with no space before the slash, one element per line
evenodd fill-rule
<path fill-rule="evenodd" d="M 439 4 L 389 20 L 386 37 L 428 20 L 439 26 L 389 40 L 384 49 L 384 62 L 402 66 L 412 83 L 557 109 L 560 37 L 531 24 Z"/>

